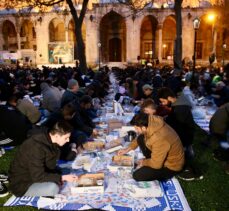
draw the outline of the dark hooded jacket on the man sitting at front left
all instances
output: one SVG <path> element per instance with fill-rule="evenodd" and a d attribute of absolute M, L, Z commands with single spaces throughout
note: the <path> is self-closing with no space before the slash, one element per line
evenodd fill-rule
<path fill-rule="evenodd" d="M 46 130 L 36 130 L 19 147 L 9 170 L 9 189 L 22 196 L 33 183 L 61 182 L 56 170 L 59 147 Z"/>

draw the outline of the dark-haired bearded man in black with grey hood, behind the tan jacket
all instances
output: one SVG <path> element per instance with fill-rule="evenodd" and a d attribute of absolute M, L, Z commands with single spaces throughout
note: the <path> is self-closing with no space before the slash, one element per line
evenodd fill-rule
<path fill-rule="evenodd" d="M 194 167 L 194 152 L 192 148 L 195 122 L 192 116 L 192 105 L 183 95 L 176 96 L 175 93 L 167 87 L 158 91 L 158 98 L 162 105 L 171 107 L 171 112 L 166 118 L 169 124 L 179 135 L 185 150 L 186 165 L 183 172 L 179 175 L 180 179 L 191 181 L 203 179 L 203 176 Z"/>

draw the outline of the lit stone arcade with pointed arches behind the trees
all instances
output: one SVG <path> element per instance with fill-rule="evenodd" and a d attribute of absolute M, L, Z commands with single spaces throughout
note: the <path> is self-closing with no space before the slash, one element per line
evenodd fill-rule
<path fill-rule="evenodd" d="M 82 28 L 88 64 L 131 64 L 140 59 L 172 63 L 176 37 L 173 4 L 154 1 L 150 8 L 132 15 L 127 6 L 107 2 L 89 2 Z M 229 59 L 229 35 L 220 27 L 222 13 L 212 6 L 219 1 L 197 2 L 183 1 L 182 58 L 192 59 L 193 19 L 198 17 L 197 64 L 208 63 L 212 52 L 222 63 Z M 80 4 L 76 6 L 80 8 Z M 64 4 L 42 14 L 0 10 L 0 60 L 21 59 L 27 65 L 74 64 L 74 23 L 66 8 Z M 209 20 L 211 14 L 214 20 Z"/>

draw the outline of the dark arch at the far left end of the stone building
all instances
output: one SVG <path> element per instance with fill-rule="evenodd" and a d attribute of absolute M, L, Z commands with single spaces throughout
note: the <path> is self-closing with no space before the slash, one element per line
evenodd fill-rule
<path fill-rule="evenodd" d="M 3 34 L 3 50 L 16 50 L 17 49 L 17 32 L 14 24 L 5 20 L 2 25 Z"/>

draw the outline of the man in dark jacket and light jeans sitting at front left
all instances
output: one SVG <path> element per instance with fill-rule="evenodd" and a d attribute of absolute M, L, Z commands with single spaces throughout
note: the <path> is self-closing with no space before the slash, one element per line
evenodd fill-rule
<path fill-rule="evenodd" d="M 58 122 L 49 131 L 36 130 L 19 147 L 9 170 L 9 189 L 16 196 L 54 196 L 62 181 L 73 182 L 76 175 L 56 170 L 59 146 L 69 141 L 72 127 Z"/>

